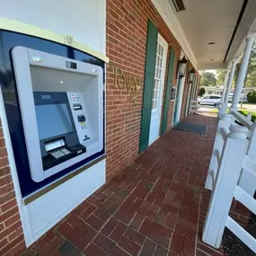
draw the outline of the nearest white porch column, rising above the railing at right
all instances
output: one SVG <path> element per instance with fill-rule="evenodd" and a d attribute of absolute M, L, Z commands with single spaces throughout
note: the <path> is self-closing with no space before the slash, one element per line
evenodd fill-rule
<path fill-rule="evenodd" d="M 244 78 L 246 75 L 248 63 L 249 63 L 249 58 L 251 55 L 251 50 L 252 50 L 252 43 L 253 43 L 254 37 L 248 37 L 246 39 L 246 46 L 244 49 L 243 53 L 243 60 L 242 64 L 239 69 L 239 74 L 237 76 L 236 84 L 234 87 L 234 95 L 232 99 L 232 105 L 231 105 L 231 110 L 236 111 L 237 110 L 237 104 L 240 100 L 242 89 L 243 89 L 243 83 L 244 83 Z"/>

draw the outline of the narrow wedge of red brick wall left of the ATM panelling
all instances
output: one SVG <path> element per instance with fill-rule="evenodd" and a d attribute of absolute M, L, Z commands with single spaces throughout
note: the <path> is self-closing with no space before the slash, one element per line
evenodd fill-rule
<path fill-rule="evenodd" d="M 24 247 L 22 223 L 0 124 L 0 255 L 11 256 Z"/>

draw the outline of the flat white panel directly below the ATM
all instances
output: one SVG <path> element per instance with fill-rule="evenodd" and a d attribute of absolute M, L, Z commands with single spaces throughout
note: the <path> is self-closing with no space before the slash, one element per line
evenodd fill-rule
<path fill-rule="evenodd" d="M 54 190 L 22 205 L 26 243 L 31 245 L 105 183 L 106 161 L 94 164 Z"/>

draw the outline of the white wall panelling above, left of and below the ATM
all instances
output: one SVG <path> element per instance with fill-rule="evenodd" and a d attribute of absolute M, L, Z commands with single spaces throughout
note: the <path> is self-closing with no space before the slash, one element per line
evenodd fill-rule
<path fill-rule="evenodd" d="M 28 26 L 32 34 L 40 38 L 48 38 L 48 36 L 54 34 L 53 32 L 71 35 L 74 40 L 80 42 L 83 46 L 91 47 L 105 55 L 106 0 L 78 0 L 75 2 L 75 5 L 65 0 L 61 1 L 61 8 L 59 8 L 59 3 L 60 1 L 52 0 L 40 2 L 32 0 L 26 2 L 10 0 L 6 2 L 3 0 L 0 16 L 7 18 L 7 22 L 14 24 L 11 31 L 30 34 L 29 31 L 25 30 L 25 27 Z M 70 9 L 71 5 L 75 6 L 75 12 Z M 13 9 L 13 6 L 16 7 Z M 77 14 L 77 12 L 79 13 Z M 48 19 L 45 19 L 45 13 L 47 13 Z M 0 18 L 0 20 L 1 26 L 5 21 L 3 21 L 3 18 Z M 40 33 L 39 28 L 46 29 L 46 31 Z M 63 43 L 63 35 L 58 36 L 59 40 L 55 38 L 50 38 L 49 40 Z M 72 47 L 75 47 L 75 43 L 75 41 L 72 43 Z M 89 52 L 87 49 L 81 50 Z M 61 185 L 51 190 L 49 196 L 47 194 L 43 195 L 25 206 L 17 177 L 1 87 L 0 118 L 3 125 L 4 140 L 8 152 L 16 199 L 22 219 L 25 242 L 29 246 L 103 185 L 105 182 L 105 160 L 90 167 L 73 179 L 66 181 L 63 184 L 65 186 Z M 87 183 L 88 186 L 85 186 Z M 33 221 L 34 217 L 36 219 Z"/>

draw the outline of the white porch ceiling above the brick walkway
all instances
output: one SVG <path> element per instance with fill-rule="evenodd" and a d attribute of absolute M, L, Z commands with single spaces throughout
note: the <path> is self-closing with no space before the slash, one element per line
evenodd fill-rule
<path fill-rule="evenodd" d="M 256 31 L 256 26 L 252 25 L 256 0 L 182 1 L 186 10 L 176 12 L 172 0 L 152 0 L 194 66 L 198 69 L 225 68 L 233 57 L 241 55 L 246 34 Z"/>

